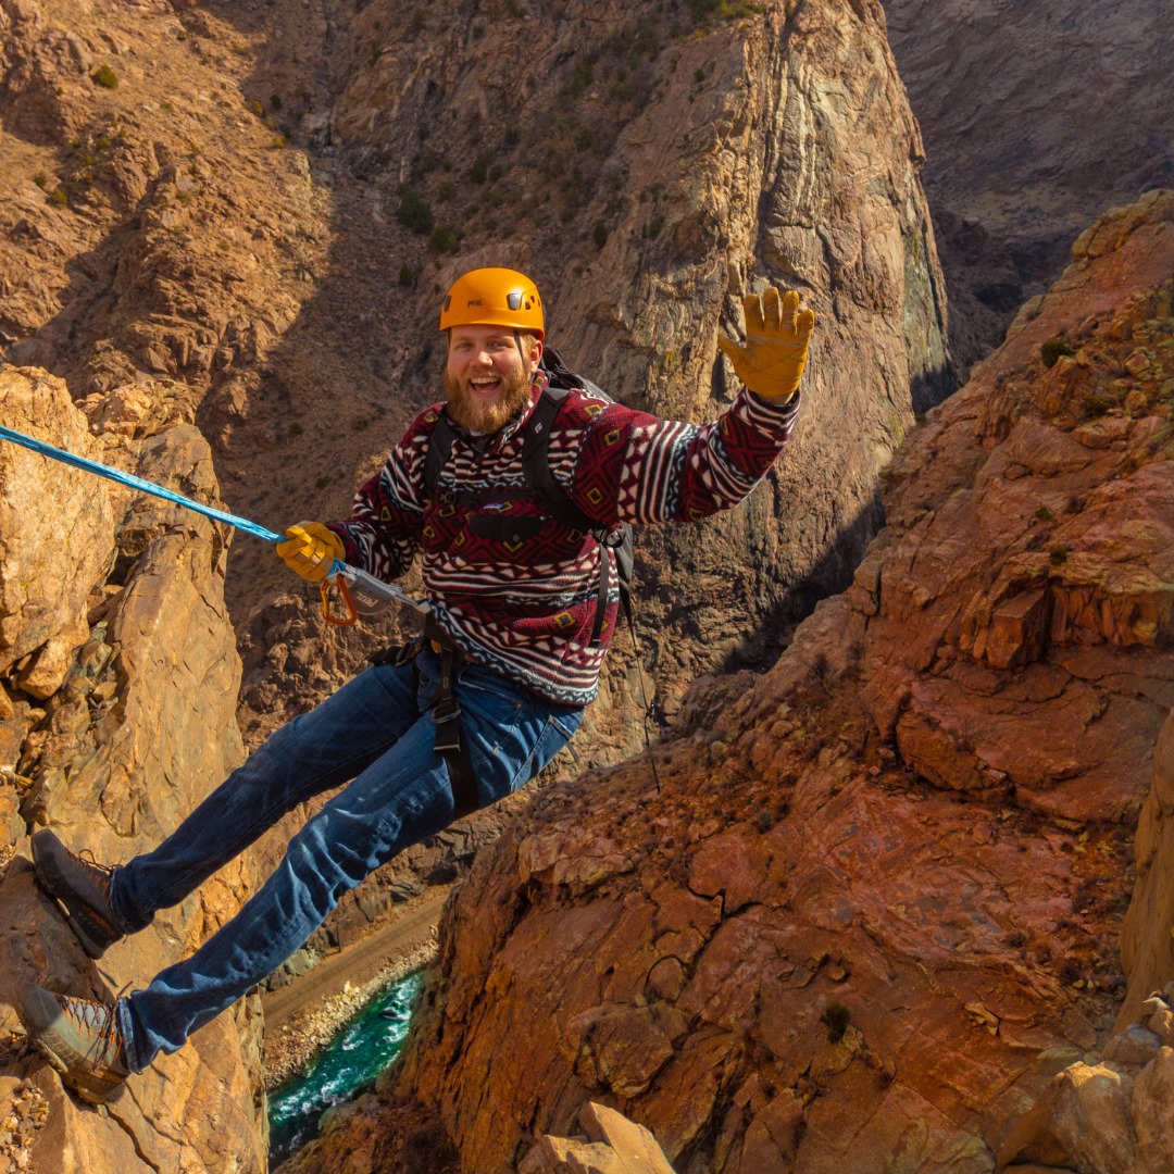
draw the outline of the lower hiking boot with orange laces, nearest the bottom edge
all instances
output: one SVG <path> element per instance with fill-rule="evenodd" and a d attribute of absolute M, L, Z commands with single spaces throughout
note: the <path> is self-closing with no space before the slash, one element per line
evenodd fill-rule
<path fill-rule="evenodd" d="M 16 1010 L 29 1039 L 82 1100 L 102 1105 L 130 1075 L 113 1006 L 29 983 Z"/>

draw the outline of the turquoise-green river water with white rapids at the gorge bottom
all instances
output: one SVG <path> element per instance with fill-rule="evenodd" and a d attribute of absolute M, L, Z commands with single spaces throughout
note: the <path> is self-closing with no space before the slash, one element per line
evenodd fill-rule
<path fill-rule="evenodd" d="M 269 1094 L 270 1167 L 312 1141 L 328 1108 L 370 1087 L 391 1064 L 407 1035 L 419 989 L 419 974 L 393 983 L 304 1072 Z"/>

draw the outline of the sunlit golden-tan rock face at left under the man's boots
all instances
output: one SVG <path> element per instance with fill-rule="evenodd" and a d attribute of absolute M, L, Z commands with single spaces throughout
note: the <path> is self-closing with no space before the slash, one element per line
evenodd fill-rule
<path fill-rule="evenodd" d="M 79 407 L 60 379 L 5 367 L 0 421 L 216 499 L 191 403 L 166 380 L 94 394 Z M 99 970 L 27 862 L 26 834 L 46 823 L 100 861 L 151 848 L 239 761 L 241 662 L 223 600 L 224 534 L 7 441 L 0 533 L 2 1152 L 13 1169 L 87 1174 L 262 1168 L 261 1033 L 251 1001 L 200 1032 L 190 1050 L 161 1058 L 108 1115 L 62 1092 L 14 1031 L 9 1010 L 18 985 L 31 980 L 106 999 L 106 976 L 140 985 L 248 896 L 250 871 L 230 866 L 110 950 Z"/>

